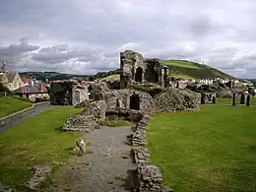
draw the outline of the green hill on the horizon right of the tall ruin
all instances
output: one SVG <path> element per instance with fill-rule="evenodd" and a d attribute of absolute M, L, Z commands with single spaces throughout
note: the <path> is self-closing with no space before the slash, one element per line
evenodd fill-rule
<path fill-rule="evenodd" d="M 169 76 L 181 79 L 236 79 L 224 72 L 186 60 L 164 60 L 165 65 L 169 68 Z"/>

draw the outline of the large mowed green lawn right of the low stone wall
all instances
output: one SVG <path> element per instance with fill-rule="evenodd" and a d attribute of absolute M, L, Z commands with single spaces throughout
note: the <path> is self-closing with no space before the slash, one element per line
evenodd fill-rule
<path fill-rule="evenodd" d="M 147 132 L 151 158 L 175 191 L 256 191 L 256 107 L 201 106 L 160 113 Z"/>

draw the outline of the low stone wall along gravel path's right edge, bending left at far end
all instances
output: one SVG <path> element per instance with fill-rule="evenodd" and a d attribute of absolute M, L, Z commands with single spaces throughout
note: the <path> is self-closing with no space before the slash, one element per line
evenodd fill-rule
<path fill-rule="evenodd" d="M 149 125 L 149 115 L 128 108 L 109 108 L 106 110 L 106 117 L 113 119 L 124 118 L 136 122 L 133 129 L 131 144 L 134 146 L 132 152 L 139 178 L 139 190 L 141 192 L 156 191 L 160 192 L 162 175 L 158 166 L 150 161 L 150 152 L 143 148 L 146 146 L 146 131 Z"/>

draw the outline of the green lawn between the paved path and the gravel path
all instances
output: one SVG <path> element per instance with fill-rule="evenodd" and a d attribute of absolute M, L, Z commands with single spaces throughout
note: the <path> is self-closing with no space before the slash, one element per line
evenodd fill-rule
<path fill-rule="evenodd" d="M 52 108 L 0 134 L 0 181 L 19 188 L 31 176 L 28 167 L 51 164 L 56 168 L 67 161 L 82 134 L 63 133 L 60 127 L 82 109 Z"/>

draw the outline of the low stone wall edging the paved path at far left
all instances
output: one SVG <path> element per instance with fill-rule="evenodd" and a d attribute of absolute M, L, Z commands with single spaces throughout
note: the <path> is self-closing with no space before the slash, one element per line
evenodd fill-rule
<path fill-rule="evenodd" d="M 4 116 L 2 118 L 0 118 L 0 127 L 6 125 L 9 122 L 15 121 L 19 118 L 24 117 L 27 114 L 30 114 L 34 111 L 34 107 L 38 106 L 38 105 L 49 105 L 50 103 L 48 101 L 45 102 L 37 102 L 32 104 L 31 107 L 25 108 L 23 110 L 17 111 L 15 113 L 12 113 L 8 116 Z"/>

